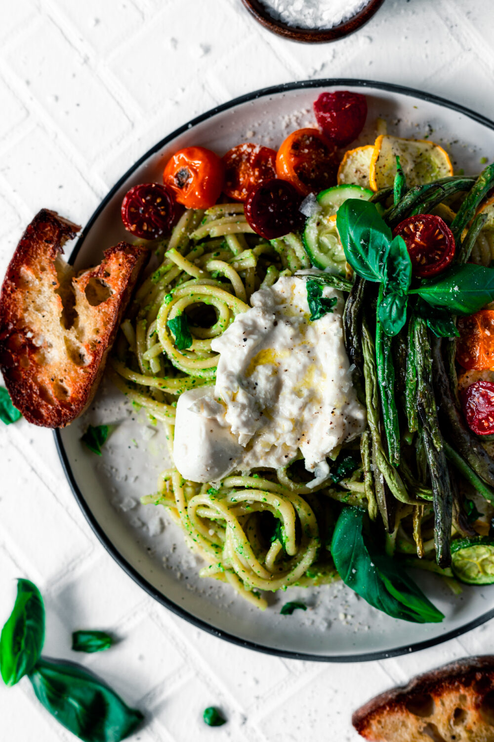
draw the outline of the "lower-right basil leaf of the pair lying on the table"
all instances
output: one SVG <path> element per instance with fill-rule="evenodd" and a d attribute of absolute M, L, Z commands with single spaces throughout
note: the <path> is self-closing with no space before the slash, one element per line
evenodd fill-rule
<path fill-rule="evenodd" d="M 84 742 L 119 742 L 144 718 L 106 683 L 73 663 L 41 659 L 29 679 L 44 708 Z"/>

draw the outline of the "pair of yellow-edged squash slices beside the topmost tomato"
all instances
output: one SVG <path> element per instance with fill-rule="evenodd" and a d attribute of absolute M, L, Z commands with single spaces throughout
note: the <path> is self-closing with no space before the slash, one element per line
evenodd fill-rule
<path fill-rule="evenodd" d="M 373 191 L 393 185 L 396 155 L 400 158 L 407 185 L 422 185 L 453 175 L 453 165 L 442 147 L 426 139 L 400 139 L 384 134 L 375 140 L 369 178 Z"/>

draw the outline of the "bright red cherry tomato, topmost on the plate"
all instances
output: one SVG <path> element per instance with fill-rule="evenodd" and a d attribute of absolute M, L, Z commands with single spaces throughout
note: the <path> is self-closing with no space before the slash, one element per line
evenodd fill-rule
<path fill-rule="evenodd" d="M 323 134 L 338 147 L 344 147 L 364 128 L 367 100 L 360 93 L 350 91 L 321 93 L 314 101 L 314 113 Z"/>

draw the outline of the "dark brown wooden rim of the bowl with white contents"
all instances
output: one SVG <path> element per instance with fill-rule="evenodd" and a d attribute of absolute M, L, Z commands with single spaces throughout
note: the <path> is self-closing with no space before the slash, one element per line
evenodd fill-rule
<path fill-rule="evenodd" d="M 290 26 L 287 23 L 276 21 L 270 16 L 269 10 L 260 0 L 242 0 L 244 6 L 254 16 L 264 28 L 268 31 L 283 36 L 284 39 L 290 39 L 293 42 L 304 42 L 306 44 L 321 44 L 323 42 L 334 42 L 343 36 L 358 30 L 361 26 L 370 21 L 374 13 L 383 4 L 384 0 L 370 0 L 370 2 L 360 10 L 355 16 L 348 21 L 340 23 L 333 28 L 298 28 Z"/>

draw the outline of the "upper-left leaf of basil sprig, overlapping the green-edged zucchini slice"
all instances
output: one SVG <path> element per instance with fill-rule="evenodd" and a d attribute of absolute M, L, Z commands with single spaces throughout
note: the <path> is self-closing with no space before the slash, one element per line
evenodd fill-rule
<path fill-rule="evenodd" d="M 384 280 L 393 237 L 375 204 L 356 198 L 347 199 L 336 214 L 336 227 L 345 257 L 353 270 L 367 280 Z"/>

